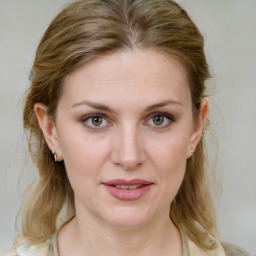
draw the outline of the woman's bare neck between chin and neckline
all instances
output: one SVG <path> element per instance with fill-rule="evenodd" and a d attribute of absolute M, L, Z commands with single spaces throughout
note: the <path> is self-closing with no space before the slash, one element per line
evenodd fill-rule
<path fill-rule="evenodd" d="M 182 255 L 179 231 L 168 213 L 129 228 L 102 223 L 95 216 L 77 215 L 61 229 L 58 242 L 61 256 Z"/>

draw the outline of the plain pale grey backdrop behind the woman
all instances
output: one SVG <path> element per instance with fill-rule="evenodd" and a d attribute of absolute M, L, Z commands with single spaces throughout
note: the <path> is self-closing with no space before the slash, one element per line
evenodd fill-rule
<path fill-rule="evenodd" d="M 43 32 L 67 2 L 0 0 L 0 252 L 12 246 L 22 193 L 35 172 L 26 163 L 22 130 L 29 71 Z M 220 235 L 256 252 L 256 1 L 178 2 L 205 37 L 213 74 L 210 118 L 223 180 L 216 200 Z"/>

